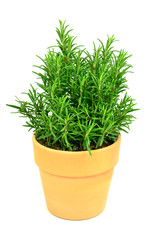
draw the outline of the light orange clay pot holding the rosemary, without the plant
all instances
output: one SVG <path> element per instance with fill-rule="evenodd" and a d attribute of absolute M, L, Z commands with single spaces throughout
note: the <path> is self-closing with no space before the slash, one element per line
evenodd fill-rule
<path fill-rule="evenodd" d="M 114 166 L 119 159 L 121 136 L 112 145 L 69 152 L 45 147 L 33 135 L 35 162 L 39 167 L 48 210 L 57 217 L 82 220 L 105 208 Z"/>

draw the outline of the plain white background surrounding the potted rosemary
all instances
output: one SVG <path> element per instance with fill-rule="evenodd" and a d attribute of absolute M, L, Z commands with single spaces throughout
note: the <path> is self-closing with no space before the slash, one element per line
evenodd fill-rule
<path fill-rule="evenodd" d="M 154 14 L 153 1 L 1 1 L 0 6 L 0 239 L 154 239 Z M 67 221 L 47 211 L 32 133 L 6 103 L 36 80 L 36 54 L 56 43 L 58 19 L 67 20 L 78 43 L 115 34 L 117 48 L 133 54 L 129 93 L 141 111 L 122 134 L 104 212 Z M 40 63 L 40 62 L 39 62 Z"/>

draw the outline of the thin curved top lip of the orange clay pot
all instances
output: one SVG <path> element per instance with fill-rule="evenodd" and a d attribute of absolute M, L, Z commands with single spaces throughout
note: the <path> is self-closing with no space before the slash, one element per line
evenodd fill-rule
<path fill-rule="evenodd" d="M 57 150 L 57 149 L 46 147 L 36 140 L 35 134 L 33 134 L 32 141 L 35 142 L 35 144 L 37 144 L 43 150 L 46 150 L 46 151 L 49 151 L 49 152 L 55 152 L 55 153 L 57 152 L 57 153 L 63 153 L 63 154 L 69 154 L 69 155 L 74 155 L 74 154 L 80 155 L 80 154 L 83 154 L 83 153 L 88 153 L 89 154 L 88 150 L 86 150 L 86 151 L 67 151 L 66 150 L 65 151 L 65 150 Z M 114 143 L 112 143 L 109 146 L 106 146 L 104 148 L 93 149 L 93 150 L 91 150 L 91 153 L 94 153 L 96 151 L 98 152 L 98 151 L 109 150 L 110 148 L 113 148 L 117 144 L 117 142 L 119 142 L 119 141 L 121 141 L 121 135 L 120 134 L 118 135 L 118 139 Z"/>

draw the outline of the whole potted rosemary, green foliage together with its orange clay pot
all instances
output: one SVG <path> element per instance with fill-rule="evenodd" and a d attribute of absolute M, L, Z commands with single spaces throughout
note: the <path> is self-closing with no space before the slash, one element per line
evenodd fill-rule
<path fill-rule="evenodd" d="M 101 213 L 118 162 L 121 131 L 134 120 L 135 102 L 127 95 L 131 55 L 115 50 L 114 36 L 94 43 L 90 54 L 75 43 L 65 22 L 57 46 L 49 47 L 34 72 L 28 100 L 10 105 L 33 130 L 47 207 L 64 219 L 88 219 Z M 57 47 L 57 48 L 56 48 Z"/>

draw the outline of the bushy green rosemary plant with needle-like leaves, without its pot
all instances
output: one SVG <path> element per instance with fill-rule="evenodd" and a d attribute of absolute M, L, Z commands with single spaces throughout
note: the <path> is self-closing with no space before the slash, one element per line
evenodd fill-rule
<path fill-rule="evenodd" d="M 97 149 L 128 132 L 136 103 L 127 95 L 126 74 L 131 55 L 113 48 L 114 36 L 106 44 L 99 40 L 93 53 L 75 43 L 72 29 L 59 21 L 57 46 L 49 47 L 27 101 L 16 98 L 10 105 L 26 117 L 25 127 L 47 147 L 69 151 Z"/>

